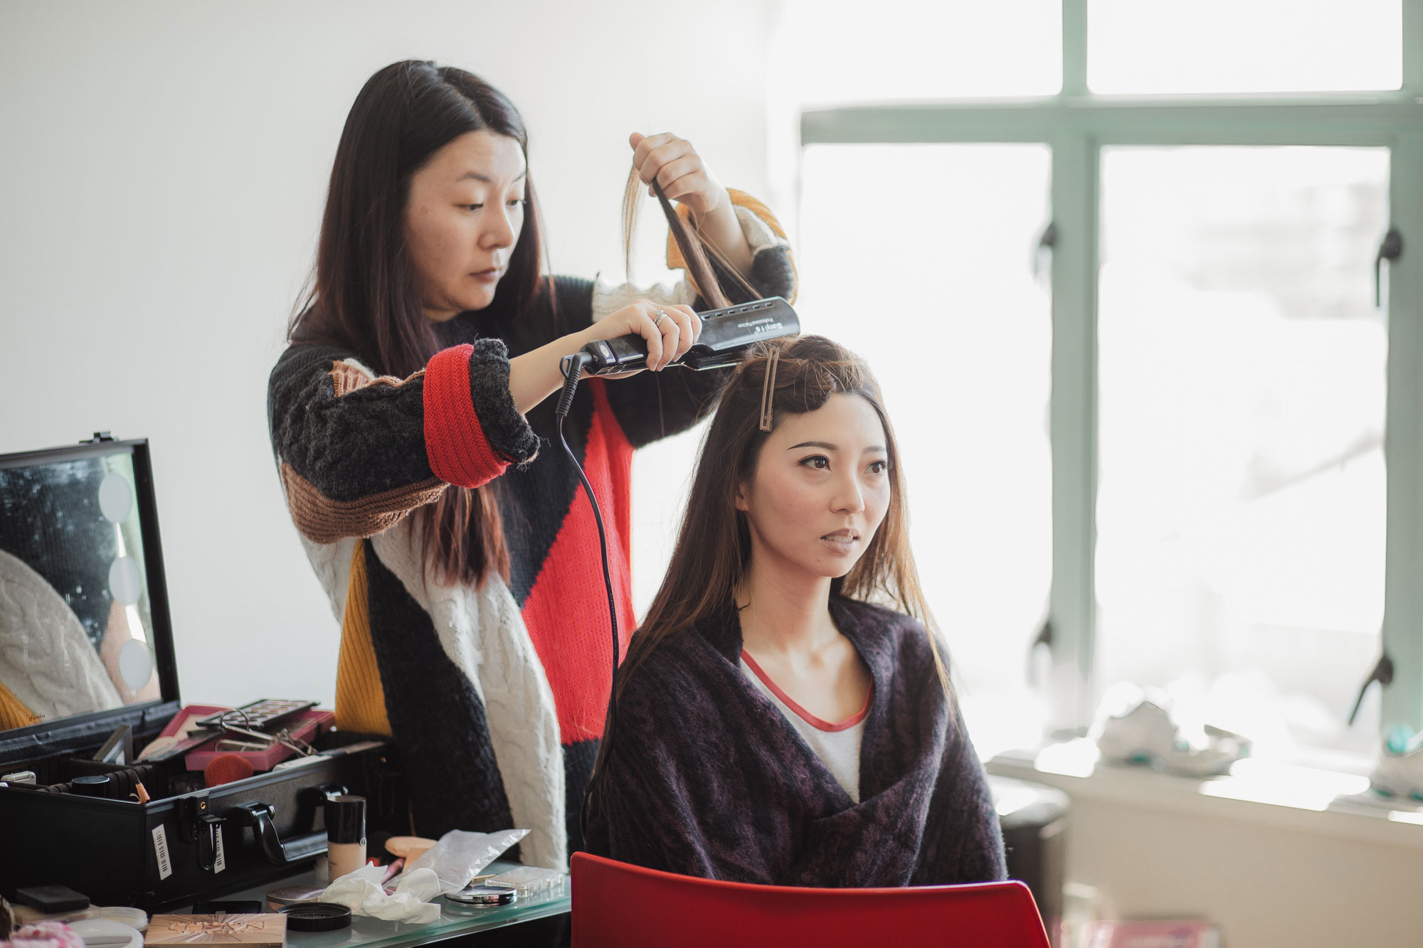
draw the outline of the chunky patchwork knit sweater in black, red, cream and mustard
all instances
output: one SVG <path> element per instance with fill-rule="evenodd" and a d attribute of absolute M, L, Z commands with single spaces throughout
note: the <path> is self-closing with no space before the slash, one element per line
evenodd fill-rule
<path fill-rule="evenodd" d="M 753 251 L 751 282 L 793 297 L 784 233 L 733 194 Z M 669 265 L 680 256 L 669 249 Z M 552 299 L 549 299 L 552 296 Z M 684 279 L 638 289 L 555 278 L 527 325 L 578 332 L 629 302 L 702 307 Z M 268 421 L 287 507 L 342 622 L 336 720 L 401 747 L 411 830 L 527 827 L 527 863 L 564 867 L 602 737 L 612 678 L 598 531 L 558 444 L 554 404 L 521 416 L 509 359 L 546 340 L 481 312 L 435 326 L 441 344 L 408 379 L 354 353 L 293 343 L 268 387 Z M 720 373 L 670 369 L 579 386 L 564 423 L 608 531 L 619 638 L 630 589 L 632 451 L 692 426 Z M 495 478 L 498 478 L 495 481 Z M 423 517 L 451 485 L 495 481 L 508 582 L 444 584 L 421 559 Z"/>

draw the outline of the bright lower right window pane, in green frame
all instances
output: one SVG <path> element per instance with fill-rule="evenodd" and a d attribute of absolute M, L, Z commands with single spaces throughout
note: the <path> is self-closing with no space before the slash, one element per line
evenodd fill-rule
<path fill-rule="evenodd" d="M 1103 151 L 1097 683 L 1261 756 L 1377 743 L 1387 204 L 1383 148 Z"/>

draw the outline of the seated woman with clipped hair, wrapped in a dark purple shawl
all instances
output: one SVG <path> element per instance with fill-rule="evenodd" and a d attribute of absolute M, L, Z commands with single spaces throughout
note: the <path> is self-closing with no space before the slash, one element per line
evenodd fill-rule
<path fill-rule="evenodd" d="M 781 885 L 1005 877 L 941 646 L 911 618 L 928 611 L 898 457 L 879 387 L 834 342 L 768 342 L 737 369 L 618 673 L 591 853 Z"/>

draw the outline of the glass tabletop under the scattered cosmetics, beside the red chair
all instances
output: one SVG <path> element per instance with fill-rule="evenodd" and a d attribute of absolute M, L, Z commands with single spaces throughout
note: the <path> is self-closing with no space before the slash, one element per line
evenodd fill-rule
<path fill-rule="evenodd" d="M 518 863 L 497 860 L 491 863 L 487 870 L 481 870 L 481 874 L 507 873 L 512 868 L 518 868 Z M 266 894 L 273 888 L 314 884 L 316 875 L 307 870 L 306 873 L 299 873 L 289 878 L 276 880 L 273 883 L 268 883 L 266 885 L 235 892 L 226 898 L 266 901 Z M 353 915 L 350 928 L 342 928 L 339 931 L 287 931 L 286 944 L 289 948 L 337 948 L 337 945 L 346 945 L 350 948 L 357 945 L 360 948 L 393 948 L 396 945 L 424 945 L 433 941 L 443 941 L 445 938 L 472 935 L 492 928 L 502 928 L 505 925 L 517 925 L 536 918 L 561 915 L 568 912 L 572 905 L 569 878 L 566 875 L 564 877 L 562 890 L 534 895 L 528 900 L 519 898 L 509 905 L 495 905 L 490 908 L 457 905 L 445 901 L 444 895 L 435 898 L 435 904 L 440 905 L 440 920 L 425 925 L 407 925 L 404 922 L 384 921 L 381 918 Z"/>

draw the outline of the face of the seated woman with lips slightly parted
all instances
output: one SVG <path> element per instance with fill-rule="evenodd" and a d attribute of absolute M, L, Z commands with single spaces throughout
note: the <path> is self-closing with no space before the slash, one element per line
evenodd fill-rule
<path fill-rule="evenodd" d="M 889 508 L 888 468 L 884 426 L 862 397 L 832 394 L 815 411 L 785 416 L 736 502 L 751 528 L 753 568 L 850 572 Z"/>

